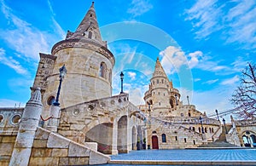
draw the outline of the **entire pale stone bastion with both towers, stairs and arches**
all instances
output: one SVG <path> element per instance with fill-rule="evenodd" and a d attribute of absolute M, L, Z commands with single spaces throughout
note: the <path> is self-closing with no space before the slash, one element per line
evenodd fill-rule
<path fill-rule="evenodd" d="M 133 105 L 123 85 L 112 95 L 115 58 L 102 41 L 94 3 L 74 32 L 39 56 L 26 107 L 0 108 L 1 165 L 101 164 L 110 154 L 218 142 L 256 146 L 256 119 L 224 124 L 184 104 L 158 58 L 144 105 Z"/>

